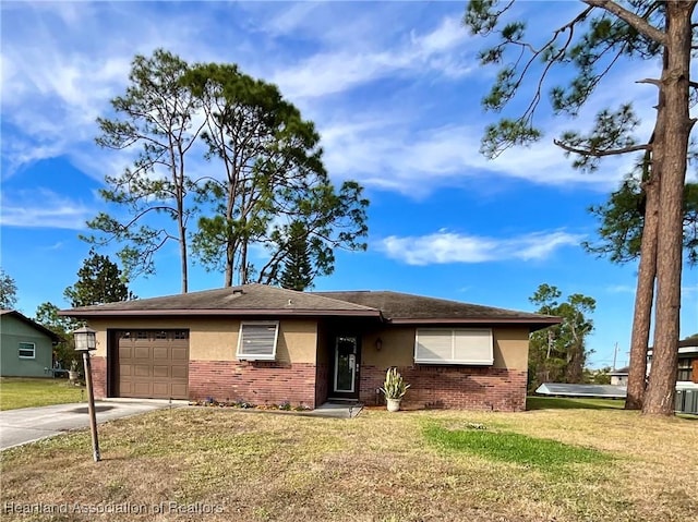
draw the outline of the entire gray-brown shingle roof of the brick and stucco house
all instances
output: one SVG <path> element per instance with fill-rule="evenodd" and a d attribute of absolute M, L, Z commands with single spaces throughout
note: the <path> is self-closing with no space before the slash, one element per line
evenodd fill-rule
<path fill-rule="evenodd" d="M 297 292 L 266 284 L 190 292 L 62 311 L 74 317 L 113 315 L 359 316 L 394 324 L 526 324 L 532 329 L 559 318 L 398 292 Z"/>

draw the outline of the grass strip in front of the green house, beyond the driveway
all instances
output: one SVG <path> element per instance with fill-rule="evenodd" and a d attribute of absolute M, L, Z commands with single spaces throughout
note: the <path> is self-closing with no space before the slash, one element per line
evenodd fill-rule
<path fill-rule="evenodd" d="M 47 406 L 84 400 L 83 387 L 67 379 L 0 378 L 0 410 Z"/>

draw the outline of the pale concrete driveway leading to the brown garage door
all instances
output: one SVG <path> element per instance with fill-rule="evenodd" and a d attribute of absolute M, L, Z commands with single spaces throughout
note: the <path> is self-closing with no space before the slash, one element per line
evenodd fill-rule
<path fill-rule="evenodd" d="M 185 404 L 186 401 L 173 401 L 171 406 Z M 160 400 L 95 401 L 97 423 L 169 406 L 169 401 Z M 86 402 L 0 412 L 0 450 L 87 427 L 89 427 L 89 414 Z"/>

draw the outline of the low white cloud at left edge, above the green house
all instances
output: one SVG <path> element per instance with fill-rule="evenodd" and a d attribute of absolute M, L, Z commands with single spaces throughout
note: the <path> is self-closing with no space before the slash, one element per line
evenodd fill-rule
<path fill-rule="evenodd" d="M 83 230 L 96 215 L 94 208 L 46 189 L 3 191 L 1 203 L 3 227 Z"/>

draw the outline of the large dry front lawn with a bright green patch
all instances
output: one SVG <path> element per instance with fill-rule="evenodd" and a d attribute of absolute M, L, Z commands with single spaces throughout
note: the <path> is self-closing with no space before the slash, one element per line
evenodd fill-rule
<path fill-rule="evenodd" d="M 96 519 L 77 511 L 23 518 L 7 511 L 16 502 L 143 510 L 110 513 L 117 522 L 684 522 L 698 514 L 695 423 L 623 410 L 369 410 L 332 420 L 185 408 L 100 425 L 99 436 L 97 464 L 87 432 L 2 452 L 0 518 Z"/>

